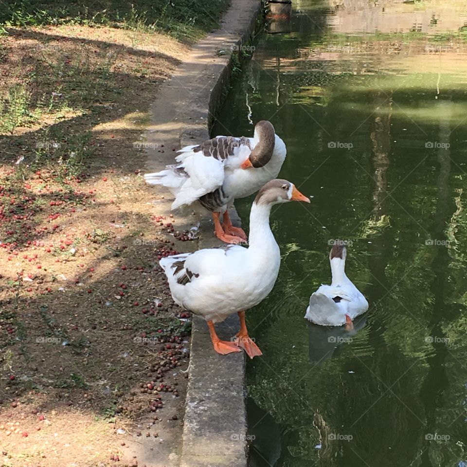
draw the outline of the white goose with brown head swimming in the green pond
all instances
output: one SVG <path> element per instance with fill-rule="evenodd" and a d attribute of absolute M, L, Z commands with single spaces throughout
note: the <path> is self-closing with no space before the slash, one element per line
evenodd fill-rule
<path fill-rule="evenodd" d="M 321 285 L 310 297 L 305 318 L 323 326 L 341 326 L 353 329 L 352 320 L 368 309 L 368 302 L 352 281 L 345 275 L 347 249 L 336 241 L 329 253 L 332 282 Z"/>

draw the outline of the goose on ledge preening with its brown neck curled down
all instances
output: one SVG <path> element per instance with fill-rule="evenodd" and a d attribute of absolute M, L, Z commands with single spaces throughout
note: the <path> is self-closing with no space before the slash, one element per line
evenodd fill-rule
<path fill-rule="evenodd" d="M 235 198 L 250 196 L 275 179 L 286 153 L 286 145 L 272 124 L 261 120 L 254 127 L 253 138 L 216 136 L 185 146 L 178 151 L 177 164 L 145 174 L 144 180 L 169 188 L 175 196 L 172 210 L 196 203 L 198 210 L 212 213 L 217 238 L 241 243 L 247 236 L 243 229 L 232 225 L 228 209 Z"/>

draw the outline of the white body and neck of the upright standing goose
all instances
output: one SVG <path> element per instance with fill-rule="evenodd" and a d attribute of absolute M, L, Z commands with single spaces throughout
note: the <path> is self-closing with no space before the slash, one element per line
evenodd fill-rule
<path fill-rule="evenodd" d="M 253 203 L 249 248 L 229 245 L 160 261 L 178 305 L 206 321 L 217 323 L 267 297 L 274 287 L 281 262 L 279 246 L 269 227 L 270 208 L 271 205 Z M 184 261 L 183 267 L 179 263 L 180 270 L 176 272 L 180 261 Z M 191 279 L 183 284 L 181 279 L 190 274 Z"/>

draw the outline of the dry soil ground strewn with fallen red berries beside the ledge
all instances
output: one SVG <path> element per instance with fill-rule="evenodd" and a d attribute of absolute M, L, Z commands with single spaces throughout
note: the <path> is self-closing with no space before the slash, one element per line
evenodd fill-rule
<path fill-rule="evenodd" d="M 143 466 L 143 448 L 151 465 L 169 465 L 177 446 L 172 459 L 158 446 L 182 423 L 190 317 L 157 260 L 194 245 L 158 212 L 140 143 L 157 86 L 187 47 L 106 27 L 8 32 L 0 465 Z"/>

